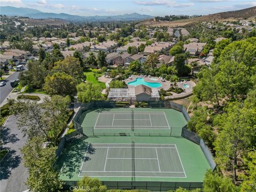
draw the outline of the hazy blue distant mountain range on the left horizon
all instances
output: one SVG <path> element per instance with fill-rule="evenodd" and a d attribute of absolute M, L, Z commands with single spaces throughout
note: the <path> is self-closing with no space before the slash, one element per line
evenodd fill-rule
<path fill-rule="evenodd" d="M 1 6 L 0 13 L 2 15 L 9 16 L 22 16 L 30 17 L 33 19 L 47 19 L 47 18 L 56 18 L 56 19 L 65 19 L 68 21 L 76 22 L 94 22 L 94 21 L 135 21 L 135 20 L 145 20 L 154 18 L 151 15 L 131 13 L 123 15 L 107 15 L 107 16 L 79 16 L 71 15 L 67 13 L 45 13 L 36 9 L 29 9 L 24 7 L 13 7 L 13 6 Z"/>

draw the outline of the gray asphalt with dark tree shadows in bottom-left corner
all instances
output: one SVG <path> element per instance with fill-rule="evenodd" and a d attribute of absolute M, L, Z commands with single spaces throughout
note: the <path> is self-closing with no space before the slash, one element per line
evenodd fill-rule
<path fill-rule="evenodd" d="M 26 138 L 17 127 L 17 119 L 10 116 L 1 130 L 2 148 L 9 153 L 1 161 L 1 192 L 20 192 L 27 190 L 25 181 L 28 178 L 27 169 L 22 162 L 20 148 L 26 143 Z"/>

